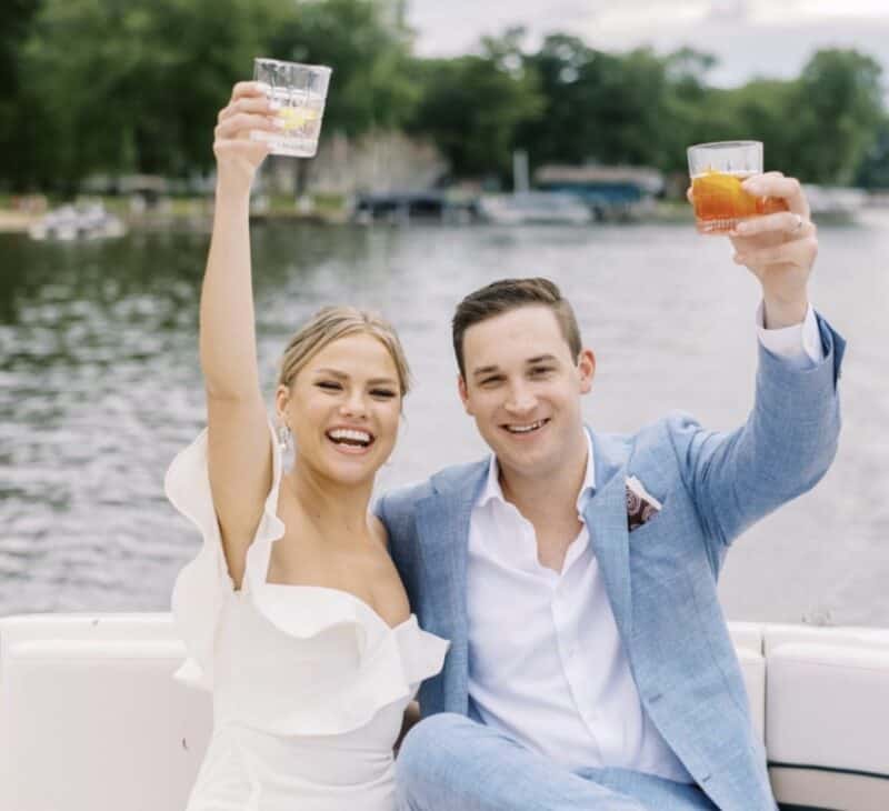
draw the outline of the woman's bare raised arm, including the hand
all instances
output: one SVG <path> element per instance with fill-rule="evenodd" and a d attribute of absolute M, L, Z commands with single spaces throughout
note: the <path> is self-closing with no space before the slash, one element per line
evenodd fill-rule
<path fill-rule="evenodd" d="M 213 152 L 217 192 L 200 307 L 207 390 L 208 467 L 229 573 L 240 585 L 244 555 L 271 487 L 272 458 L 259 383 L 250 271 L 250 186 L 269 152 L 251 130 L 274 130 L 256 82 L 234 86 L 219 113 Z"/>

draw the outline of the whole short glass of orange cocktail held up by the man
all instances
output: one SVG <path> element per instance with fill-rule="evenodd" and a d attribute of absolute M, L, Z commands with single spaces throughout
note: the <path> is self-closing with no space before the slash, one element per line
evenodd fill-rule
<path fill-rule="evenodd" d="M 715 141 L 688 149 L 688 173 L 700 233 L 728 233 L 741 220 L 787 211 L 778 198 L 756 197 L 741 183 L 762 172 L 761 141 Z"/>

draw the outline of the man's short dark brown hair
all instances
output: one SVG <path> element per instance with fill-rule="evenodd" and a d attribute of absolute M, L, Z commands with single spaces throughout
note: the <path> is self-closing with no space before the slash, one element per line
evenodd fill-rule
<path fill-rule="evenodd" d="M 457 366 L 460 376 L 466 380 L 463 364 L 463 334 L 472 324 L 487 321 L 495 316 L 530 306 L 548 307 L 552 310 L 562 337 L 571 350 L 571 357 L 577 361 L 582 348 L 580 329 L 577 326 L 575 311 L 568 299 L 563 299 L 561 291 L 549 279 L 501 279 L 480 290 L 469 293 L 458 306 L 453 313 L 451 331 L 453 333 L 453 353 L 457 356 Z"/>

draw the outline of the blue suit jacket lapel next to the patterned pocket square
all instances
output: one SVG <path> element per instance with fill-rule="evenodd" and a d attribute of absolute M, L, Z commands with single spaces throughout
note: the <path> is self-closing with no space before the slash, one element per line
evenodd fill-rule
<path fill-rule="evenodd" d="M 632 633 L 630 554 L 627 530 L 626 448 L 590 432 L 596 461 L 596 492 L 583 518 L 590 533 L 618 629 L 629 650 Z"/>

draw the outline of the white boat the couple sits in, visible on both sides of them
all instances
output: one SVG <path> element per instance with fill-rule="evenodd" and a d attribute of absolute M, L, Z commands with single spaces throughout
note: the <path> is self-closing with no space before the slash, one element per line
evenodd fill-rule
<path fill-rule="evenodd" d="M 889 629 L 729 631 L 781 808 L 889 809 Z M 167 613 L 0 619 L 0 809 L 181 811 L 212 723 L 183 657 Z"/>

